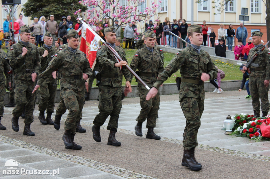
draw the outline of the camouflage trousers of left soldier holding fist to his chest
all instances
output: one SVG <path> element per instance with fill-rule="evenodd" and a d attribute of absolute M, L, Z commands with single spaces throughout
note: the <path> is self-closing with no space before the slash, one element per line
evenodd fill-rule
<path fill-rule="evenodd" d="M 34 87 L 35 83 L 32 80 L 15 79 L 15 107 L 12 111 L 12 115 L 20 117 L 23 112 L 23 107 L 25 106 L 25 124 L 31 124 L 34 120 L 35 94 L 32 94 Z"/>

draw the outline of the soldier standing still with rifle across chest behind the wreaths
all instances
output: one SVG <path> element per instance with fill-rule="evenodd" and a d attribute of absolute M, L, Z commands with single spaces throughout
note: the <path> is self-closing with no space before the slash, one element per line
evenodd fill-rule
<path fill-rule="evenodd" d="M 249 61 L 259 49 L 262 48 L 262 32 L 252 32 L 252 43 L 254 47 L 248 53 Z M 244 66 L 243 70 L 247 70 Z M 254 117 L 260 117 L 260 99 L 262 108 L 262 117 L 265 117 L 269 111 L 269 80 L 270 80 L 270 56 L 269 50 L 264 48 L 262 52 L 253 60 L 249 73 L 249 90 L 252 99 Z"/>

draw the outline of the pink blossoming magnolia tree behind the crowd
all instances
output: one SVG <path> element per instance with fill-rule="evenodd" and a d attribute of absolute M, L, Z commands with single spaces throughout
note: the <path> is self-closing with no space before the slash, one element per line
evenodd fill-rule
<path fill-rule="evenodd" d="M 159 2 L 161 3 L 161 1 Z M 86 23 L 95 25 L 97 20 L 100 23 L 103 19 L 108 18 L 112 26 L 116 20 L 119 21 L 117 29 L 132 22 L 146 22 L 156 14 L 158 9 L 158 4 L 155 2 L 151 2 L 151 6 L 146 7 L 145 0 L 126 0 L 124 2 L 123 0 L 84 0 L 79 3 L 89 8 L 83 13 L 87 16 Z M 82 13 L 81 9 L 75 12 L 75 14 L 77 13 Z M 96 30 L 101 28 L 97 26 Z"/>

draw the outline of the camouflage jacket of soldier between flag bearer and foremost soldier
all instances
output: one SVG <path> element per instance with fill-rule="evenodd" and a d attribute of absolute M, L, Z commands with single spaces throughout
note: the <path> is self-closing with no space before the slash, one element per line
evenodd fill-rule
<path fill-rule="evenodd" d="M 157 80 L 157 75 L 164 70 L 162 60 L 157 49 L 154 48 L 153 53 L 150 52 L 146 46 L 135 52 L 133 59 L 130 63 L 130 68 L 133 71 L 139 70 L 139 77 L 146 83 L 149 87 L 153 87 L 153 84 Z M 154 77 L 147 77 L 140 75 L 140 73 L 156 74 Z M 133 75 L 131 75 L 133 77 Z M 138 81 L 138 86 L 143 86 L 142 83 Z"/>

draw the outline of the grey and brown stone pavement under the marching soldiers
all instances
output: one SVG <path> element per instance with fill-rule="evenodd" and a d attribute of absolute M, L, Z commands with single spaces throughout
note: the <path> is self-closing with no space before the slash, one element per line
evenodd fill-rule
<path fill-rule="evenodd" d="M 198 131 L 195 156 L 202 163 L 201 171 L 191 171 L 181 166 L 183 156 L 182 134 L 185 118 L 178 102 L 178 95 L 161 96 L 159 118 L 154 129 L 161 140 L 146 139 L 135 135 L 134 126 L 140 112 L 139 98 L 123 100 L 116 139 L 120 147 L 107 145 L 108 119 L 101 127 L 102 141 L 92 138 L 93 119 L 98 114 L 98 101 L 87 101 L 83 108 L 81 124 L 86 133 L 77 133 L 75 142 L 82 145 L 79 151 L 65 149 L 62 141 L 62 116 L 60 130 L 43 125 L 34 111 L 31 130 L 34 137 L 22 135 L 23 119 L 19 119 L 19 132 L 11 129 L 12 108 L 5 108 L 1 123 L 7 127 L 0 131 L 0 178 L 269 178 L 270 142 L 254 142 L 248 138 L 225 135 L 223 121 L 227 115 L 252 113 L 251 99 L 246 92 L 223 91 L 206 93 L 205 110 Z M 58 104 L 56 104 L 57 106 Z M 17 170 L 53 170 L 58 173 L 30 175 L 4 174 L 7 160 L 20 163 Z M 260 166 L 260 167 L 259 167 Z M 248 170 L 255 172 L 247 172 Z"/>

